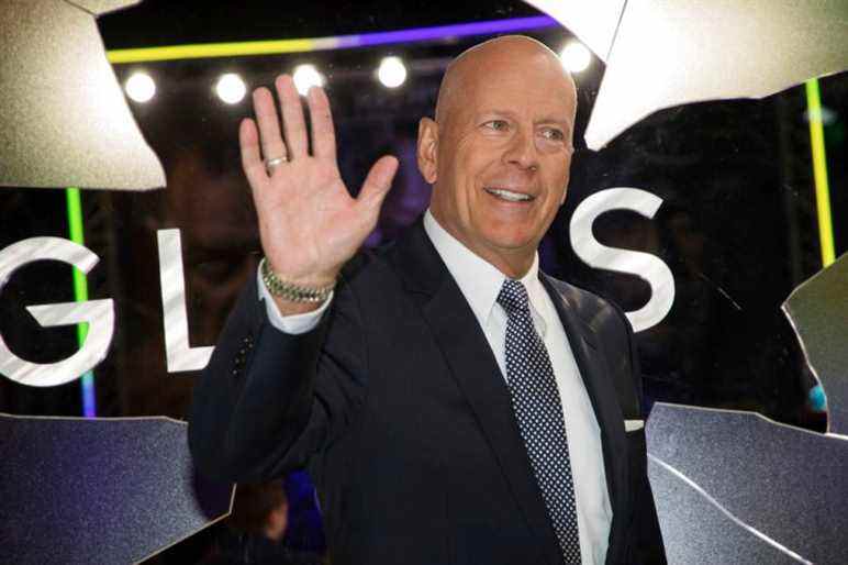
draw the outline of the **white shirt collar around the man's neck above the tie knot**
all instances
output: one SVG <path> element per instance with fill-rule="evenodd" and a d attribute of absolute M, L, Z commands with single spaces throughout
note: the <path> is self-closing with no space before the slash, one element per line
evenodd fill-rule
<path fill-rule="evenodd" d="M 424 230 L 471 307 L 475 318 L 484 328 L 506 276 L 450 235 L 436 221 L 429 209 L 424 214 Z M 536 302 L 535 298 L 540 288 L 538 270 L 539 257 L 536 253 L 529 270 L 520 279 L 527 289 L 531 303 Z"/>

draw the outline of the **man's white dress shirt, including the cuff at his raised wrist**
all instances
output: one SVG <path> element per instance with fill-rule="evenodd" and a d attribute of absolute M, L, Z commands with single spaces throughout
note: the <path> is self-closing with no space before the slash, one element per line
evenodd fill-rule
<path fill-rule="evenodd" d="M 498 295 L 506 277 L 445 231 L 429 210 L 424 215 L 424 230 L 471 307 L 492 348 L 501 374 L 506 379 L 506 312 L 498 303 Z M 257 276 L 260 297 L 266 301 L 268 318 L 280 331 L 297 334 L 313 329 L 321 313 L 332 301 L 331 296 L 319 310 L 283 317 L 270 299 L 270 293 L 258 273 Z M 612 522 L 612 508 L 601 451 L 601 431 L 562 323 L 550 296 L 538 278 L 538 255 L 521 281 L 527 289 L 533 324 L 548 350 L 562 402 L 568 451 L 571 456 L 571 475 L 574 481 L 582 562 L 601 565 L 606 560 Z"/>

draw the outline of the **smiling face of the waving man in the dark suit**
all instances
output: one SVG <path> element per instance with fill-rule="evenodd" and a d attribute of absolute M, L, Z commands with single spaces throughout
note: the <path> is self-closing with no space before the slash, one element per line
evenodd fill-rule
<path fill-rule="evenodd" d="M 558 60 L 521 51 L 462 62 L 444 118 L 420 137 L 424 148 L 427 126 L 437 137 L 434 163 L 422 164 L 433 214 L 501 270 L 532 261 L 565 200 L 572 154 L 573 87 Z"/>

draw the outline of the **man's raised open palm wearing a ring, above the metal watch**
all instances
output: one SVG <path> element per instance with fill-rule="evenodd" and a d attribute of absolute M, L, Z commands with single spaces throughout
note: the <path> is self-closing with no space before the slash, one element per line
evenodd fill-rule
<path fill-rule="evenodd" d="M 256 122 L 245 119 L 238 131 L 242 166 L 253 190 L 263 250 L 270 267 L 290 282 L 322 287 L 335 280 L 377 224 L 398 159 L 378 159 L 359 196 L 352 198 L 338 173 L 333 115 L 324 90 L 312 87 L 306 96 L 312 121 L 310 154 L 300 95 L 292 78 L 280 75 L 275 87 L 284 139 L 271 92 L 256 89 Z M 269 173 L 263 157 L 284 160 Z M 287 304 L 280 299 L 277 303 L 283 314 L 315 308 Z"/>

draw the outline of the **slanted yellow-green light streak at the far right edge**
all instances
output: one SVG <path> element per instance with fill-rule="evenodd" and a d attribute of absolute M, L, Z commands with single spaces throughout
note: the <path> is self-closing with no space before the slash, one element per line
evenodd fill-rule
<path fill-rule="evenodd" d="M 813 152 L 813 179 L 816 187 L 816 211 L 818 213 L 818 241 L 822 247 L 822 264 L 827 267 L 836 261 L 834 225 L 830 213 L 830 189 L 827 182 L 827 157 L 825 155 L 825 132 L 822 124 L 822 98 L 818 80 L 806 81 L 807 118 L 810 122 L 810 147 Z"/>

